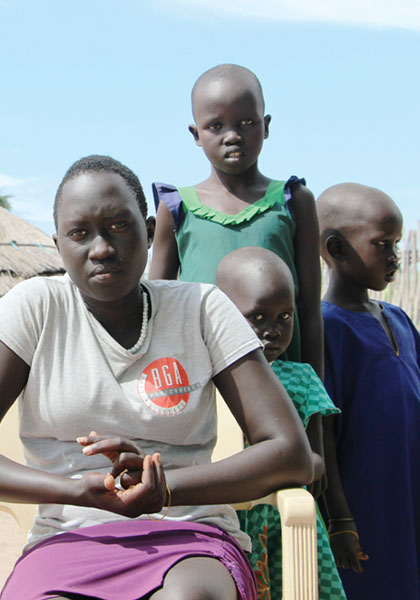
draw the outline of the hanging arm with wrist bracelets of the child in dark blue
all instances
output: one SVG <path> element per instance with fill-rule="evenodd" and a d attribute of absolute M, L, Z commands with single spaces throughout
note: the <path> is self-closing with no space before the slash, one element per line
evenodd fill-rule
<path fill-rule="evenodd" d="M 324 492 L 327 509 L 331 549 L 339 567 L 351 568 L 362 573 L 360 561 L 367 560 L 363 553 L 357 532 L 357 526 L 351 515 L 341 484 L 337 465 L 337 452 L 333 432 L 333 418 L 324 418 L 324 455 L 328 486 Z"/>

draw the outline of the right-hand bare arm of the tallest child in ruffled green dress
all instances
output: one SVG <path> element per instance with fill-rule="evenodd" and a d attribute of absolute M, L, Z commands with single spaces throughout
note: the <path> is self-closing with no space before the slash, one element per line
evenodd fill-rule
<path fill-rule="evenodd" d="M 302 362 L 312 365 L 324 378 L 324 348 L 321 317 L 321 268 L 319 228 L 315 199 L 310 190 L 299 185 L 293 190 L 290 207 L 296 220 L 295 264 L 299 281 L 299 323 Z"/>

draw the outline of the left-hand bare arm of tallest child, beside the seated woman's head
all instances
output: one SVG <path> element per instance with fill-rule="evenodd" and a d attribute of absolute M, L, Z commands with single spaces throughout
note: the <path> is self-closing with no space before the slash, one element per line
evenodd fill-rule
<path fill-rule="evenodd" d="M 169 208 L 164 202 L 161 202 L 156 214 L 156 230 L 149 279 L 177 279 L 178 271 L 179 256 L 174 222 Z"/>

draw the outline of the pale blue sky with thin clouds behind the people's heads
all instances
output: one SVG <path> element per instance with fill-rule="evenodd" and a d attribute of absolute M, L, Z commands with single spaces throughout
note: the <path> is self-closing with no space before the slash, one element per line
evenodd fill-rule
<path fill-rule="evenodd" d="M 53 233 L 66 169 L 110 154 L 151 182 L 198 183 L 190 90 L 206 69 L 260 78 L 264 174 L 318 195 L 379 187 L 420 219 L 418 0 L 0 0 L 0 193 Z"/>

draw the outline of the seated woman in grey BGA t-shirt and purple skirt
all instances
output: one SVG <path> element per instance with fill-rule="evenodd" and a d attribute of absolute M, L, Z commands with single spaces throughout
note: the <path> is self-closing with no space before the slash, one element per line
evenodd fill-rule
<path fill-rule="evenodd" d="M 0 301 L 0 417 L 19 398 L 27 463 L 0 457 L 0 499 L 39 505 L 2 600 L 255 599 L 228 504 L 319 478 L 292 402 L 215 286 L 141 280 L 130 169 L 80 159 L 54 218 L 66 275 Z M 215 386 L 251 445 L 211 463 Z"/>

